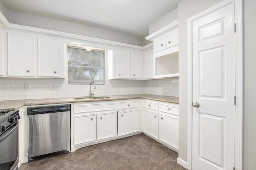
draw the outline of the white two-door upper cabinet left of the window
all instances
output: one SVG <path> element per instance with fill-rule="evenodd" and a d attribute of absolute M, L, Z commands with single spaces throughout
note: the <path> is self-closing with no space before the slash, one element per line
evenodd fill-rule
<path fill-rule="evenodd" d="M 65 77 L 61 39 L 16 31 L 5 33 L 6 77 Z"/>

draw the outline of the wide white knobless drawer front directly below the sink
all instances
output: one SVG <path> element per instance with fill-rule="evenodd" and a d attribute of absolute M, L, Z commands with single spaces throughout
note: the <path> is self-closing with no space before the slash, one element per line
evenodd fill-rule
<path fill-rule="evenodd" d="M 77 104 L 74 105 L 74 113 L 114 110 L 116 103 L 99 103 L 99 104 Z"/>

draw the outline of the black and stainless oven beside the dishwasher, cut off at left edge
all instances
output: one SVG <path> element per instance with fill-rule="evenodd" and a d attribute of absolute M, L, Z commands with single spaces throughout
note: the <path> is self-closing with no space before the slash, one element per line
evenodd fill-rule
<path fill-rule="evenodd" d="M 0 111 L 0 170 L 18 169 L 19 110 Z"/>

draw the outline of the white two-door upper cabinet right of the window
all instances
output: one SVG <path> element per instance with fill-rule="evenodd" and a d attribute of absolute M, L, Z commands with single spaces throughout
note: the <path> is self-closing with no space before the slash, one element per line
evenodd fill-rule
<path fill-rule="evenodd" d="M 108 79 L 142 79 L 143 51 L 128 48 L 116 48 L 116 53 L 109 56 Z"/>

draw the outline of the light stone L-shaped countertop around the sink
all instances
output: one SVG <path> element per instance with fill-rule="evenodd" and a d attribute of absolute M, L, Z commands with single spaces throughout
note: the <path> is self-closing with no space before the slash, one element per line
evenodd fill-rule
<path fill-rule="evenodd" d="M 88 97 L 88 96 L 85 96 L 85 97 Z M 94 97 L 98 97 L 98 96 L 94 96 Z M 33 105 L 43 105 L 43 104 L 67 104 L 67 103 L 78 103 L 78 102 L 98 102 L 98 101 L 128 100 L 128 99 L 140 99 L 140 98 L 179 104 L 178 97 L 160 96 L 160 95 L 153 95 L 153 94 L 130 94 L 130 95 L 117 95 L 117 96 L 108 96 L 108 97 L 110 97 L 110 99 L 75 100 L 74 98 L 50 98 L 50 99 L 8 100 L 8 101 L 0 101 L 0 110 L 15 110 L 22 106 L 33 106 Z"/>

